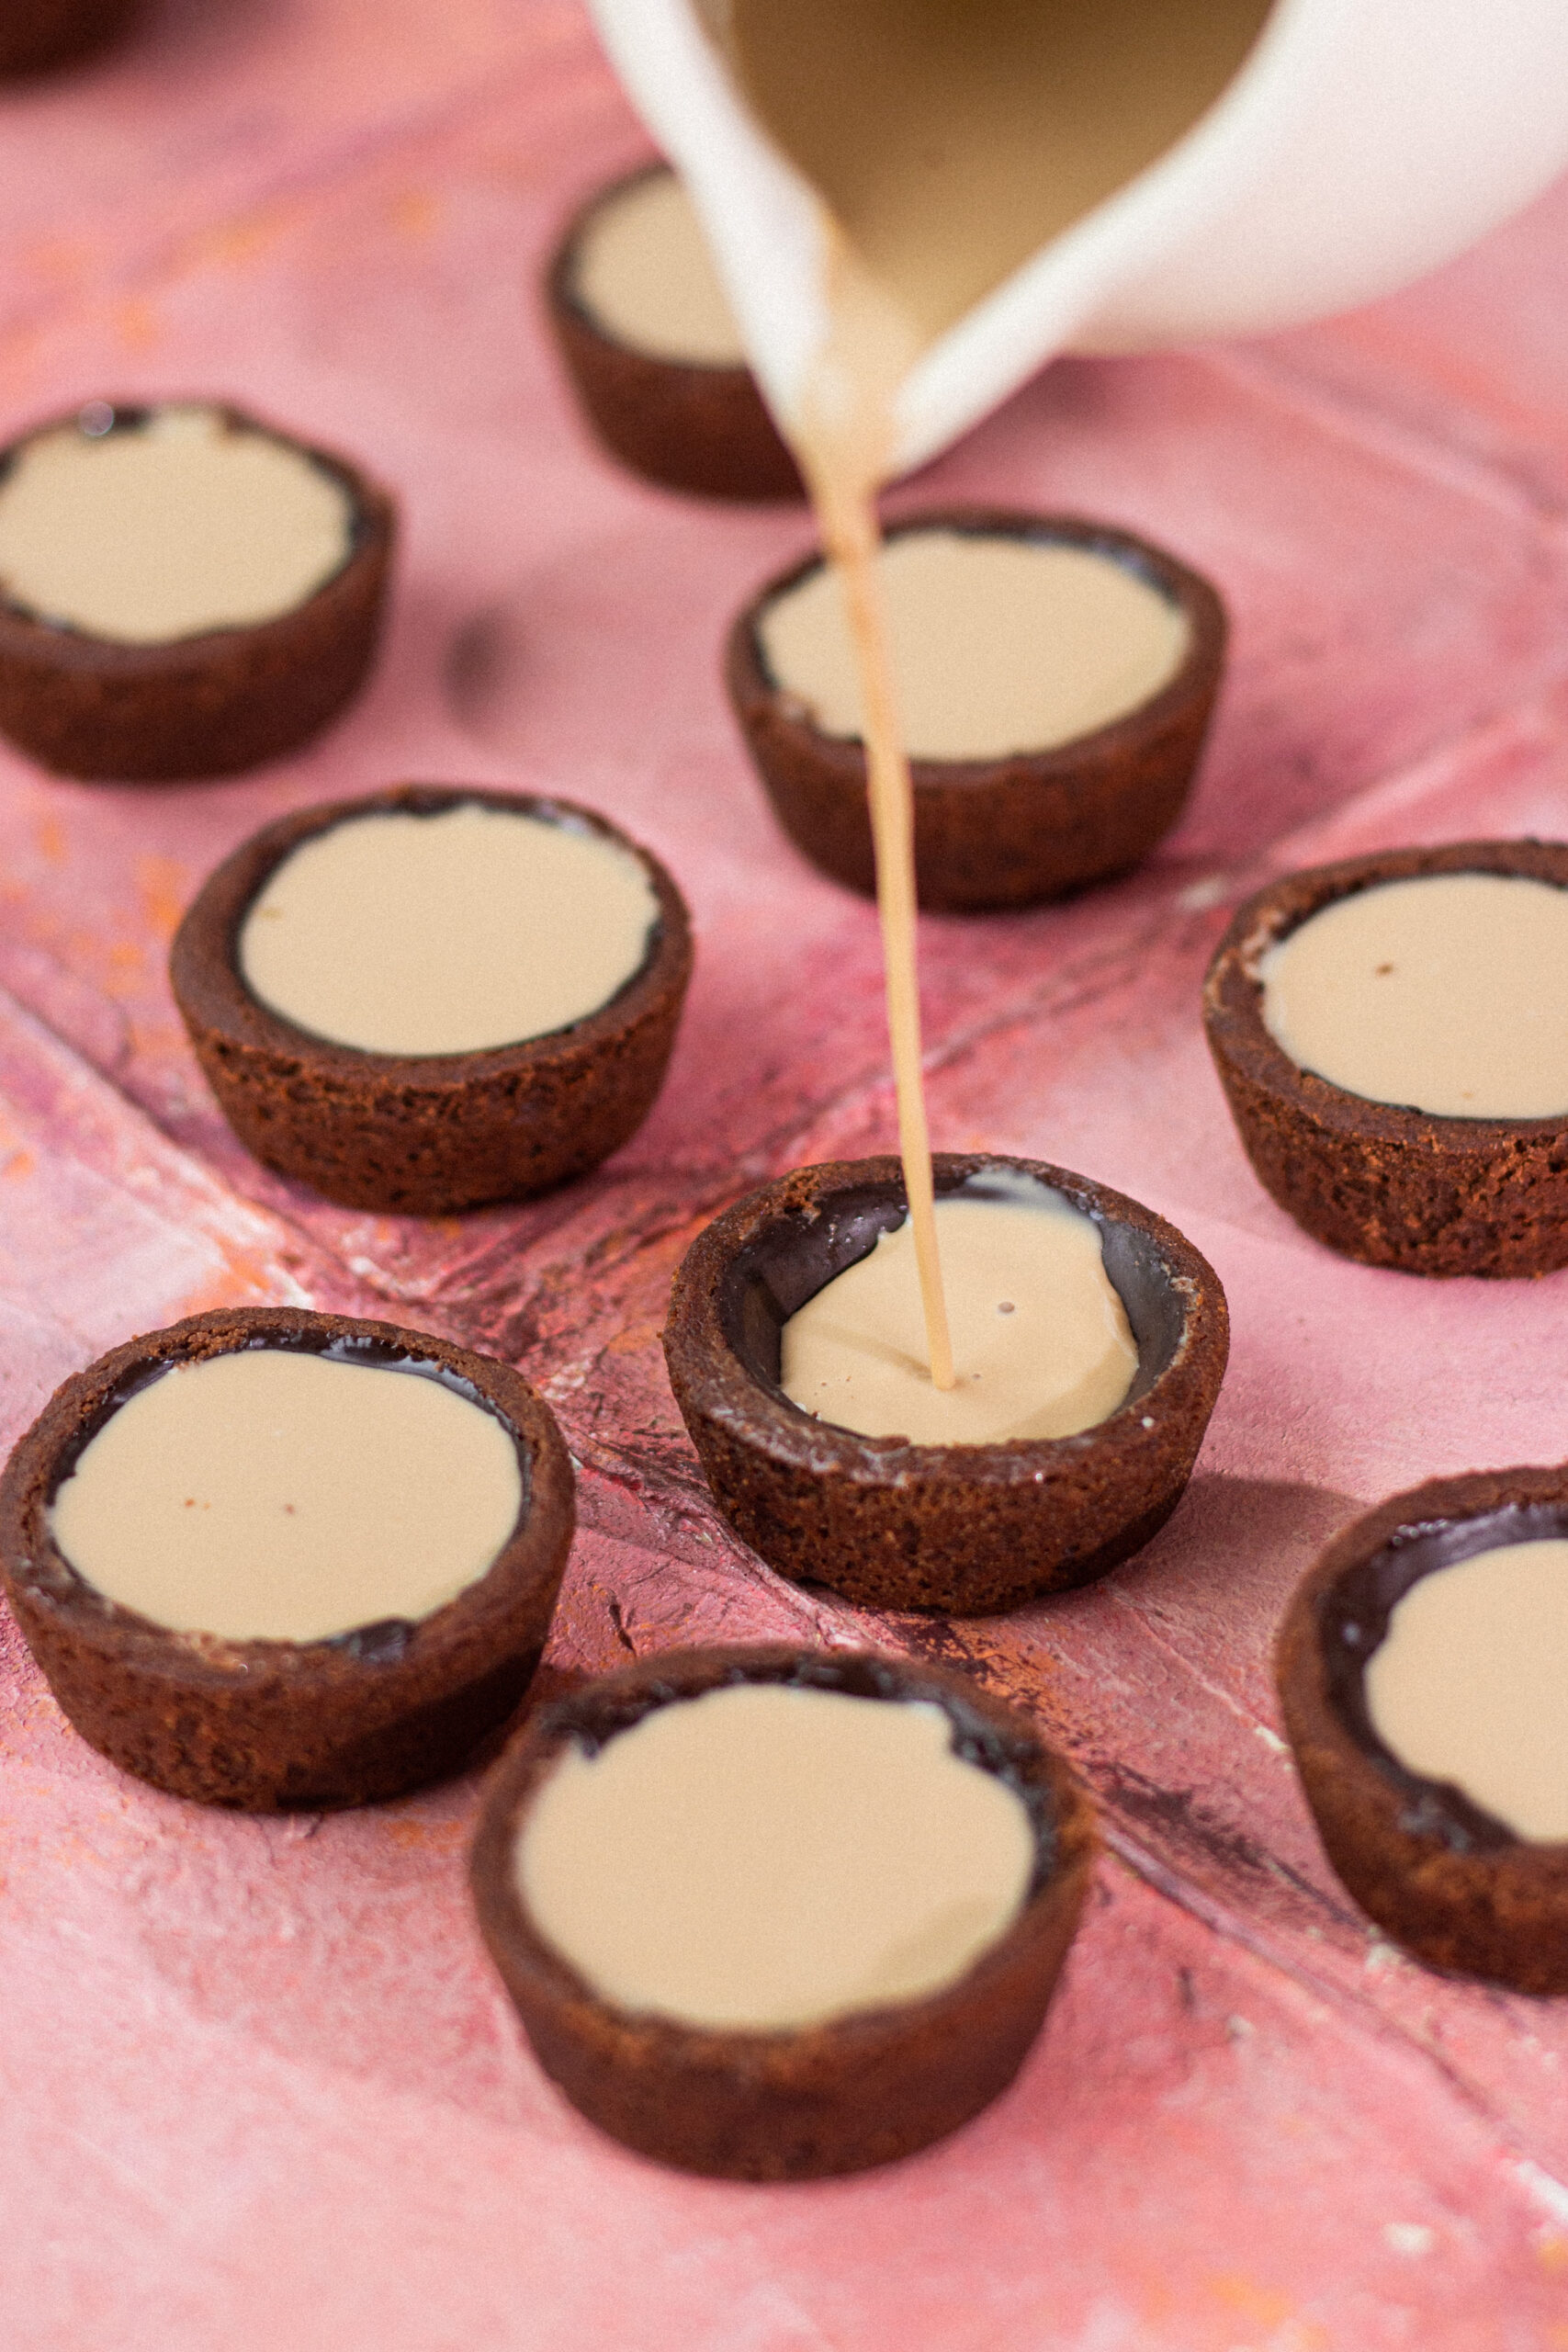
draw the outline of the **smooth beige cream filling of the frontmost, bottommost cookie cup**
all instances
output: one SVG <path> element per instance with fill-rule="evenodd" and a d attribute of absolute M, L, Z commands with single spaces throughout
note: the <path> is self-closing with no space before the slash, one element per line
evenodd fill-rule
<path fill-rule="evenodd" d="M 1023 1910 L 1034 1830 L 936 1705 L 738 1684 L 567 1750 L 515 1870 L 618 2009 L 776 2032 L 964 1976 Z"/>

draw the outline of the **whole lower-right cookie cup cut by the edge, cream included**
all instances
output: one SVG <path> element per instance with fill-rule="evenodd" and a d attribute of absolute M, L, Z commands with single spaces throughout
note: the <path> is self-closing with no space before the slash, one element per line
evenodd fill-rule
<path fill-rule="evenodd" d="M 1356 1519 L 1274 1670 L 1361 1910 L 1432 1969 L 1568 1992 L 1568 1470 L 1432 1479 Z"/>

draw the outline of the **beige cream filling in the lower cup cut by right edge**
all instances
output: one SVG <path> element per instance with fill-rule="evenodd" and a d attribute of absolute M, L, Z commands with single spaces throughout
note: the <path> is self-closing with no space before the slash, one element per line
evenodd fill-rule
<path fill-rule="evenodd" d="M 1568 1541 L 1418 1578 L 1366 1663 L 1385 1748 L 1519 1837 L 1568 1839 Z"/>

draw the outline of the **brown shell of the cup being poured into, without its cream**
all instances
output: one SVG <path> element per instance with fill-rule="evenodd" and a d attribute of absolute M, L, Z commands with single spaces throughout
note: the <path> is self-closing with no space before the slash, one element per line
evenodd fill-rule
<path fill-rule="evenodd" d="M 938 1152 L 936 1195 L 1023 1169 L 1100 1225 L 1138 1343 L 1126 1399 L 1077 1437 L 914 1446 L 818 1421 L 778 1385 L 780 1331 L 903 1223 L 898 1160 L 795 1169 L 686 1251 L 665 1362 L 708 1484 L 771 1569 L 870 1609 L 978 1616 L 1093 1583 L 1175 1510 L 1225 1376 L 1213 1268 L 1152 1209 L 1037 1160 Z"/>

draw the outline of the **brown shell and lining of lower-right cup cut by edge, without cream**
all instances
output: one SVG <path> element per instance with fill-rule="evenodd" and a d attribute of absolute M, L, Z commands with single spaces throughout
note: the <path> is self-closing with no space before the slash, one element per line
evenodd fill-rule
<path fill-rule="evenodd" d="M 1335 1872 L 1432 1969 L 1568 1992 L 1568 1844 L 1516 1837 L 1378 1738 L 1366 1663 L 1420 1576 L 1568 1536 L 1568 1470 L 1432 1479 L 1356 1519 L 1295 1588 L 1274 1672 L 1295 1769 Z"/>

